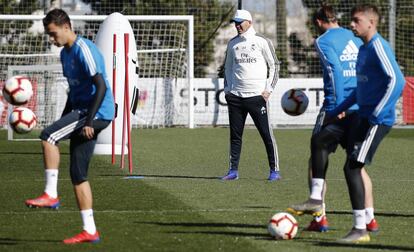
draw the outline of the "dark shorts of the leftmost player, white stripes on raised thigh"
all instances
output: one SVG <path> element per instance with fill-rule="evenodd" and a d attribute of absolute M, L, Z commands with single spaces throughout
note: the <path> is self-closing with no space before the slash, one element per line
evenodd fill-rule
<path fill-rule="evenodd" d="M 98 134 L 110 123 L 106 120 L 93 120 L 95 134 L 92 139 L 87 139 L 81 134 L 85 120 L 86 114 L 76 110 L 64 115 L 40 134 L 40 139 L 54 145 L 60 140 L 70 139 L 70 176 L 75 185 L 87 180 L 89 161 Z"/>

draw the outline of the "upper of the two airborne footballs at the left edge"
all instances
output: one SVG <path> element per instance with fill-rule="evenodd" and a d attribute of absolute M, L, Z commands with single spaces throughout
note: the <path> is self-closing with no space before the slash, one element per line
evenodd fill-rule
<path fill-rule="evenodd" d="M 12 105 L 26 104 L 32 95 L 32 83 L 27 77 L 13 76 L 4 84 L 3 97 Z"/>

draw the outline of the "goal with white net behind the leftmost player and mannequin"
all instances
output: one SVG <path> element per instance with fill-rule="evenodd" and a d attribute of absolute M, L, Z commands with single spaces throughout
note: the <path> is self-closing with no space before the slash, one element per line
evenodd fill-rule
<path fill-rule="evenodd" d="M 188 101 L 192 95 L 189 91 L 192 90 L 194 64 L 193 17 L 126 17 L 134 32 L 139 65 L 137 87 L 140 99 L 137 113 L 132 118 L 133 126 L 192 127 L 192 104 Z M 40 15 L 0 15 L 0 88 L 13 75 L 26 75 L 32 80 L 37 91 L 28 106 L 36 105 L 38 129 L 56 120 L 66 102 L 65 94 L 59 91 L 66 85 L 59 67 L 61 48 L 49 43 L 42 18 Z M 71 16 L 72 28 L 76 34 L 95 41 L 105 18 Z M 6 109 L 0 117 L 0 125 L 5 127 L 7 103 L 3 103 Z"/>

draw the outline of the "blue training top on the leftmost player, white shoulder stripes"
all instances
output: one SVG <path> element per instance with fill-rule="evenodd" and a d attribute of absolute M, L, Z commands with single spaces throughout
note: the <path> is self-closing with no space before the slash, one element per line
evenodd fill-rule
<path fill-rule="evenodd" d="M 112 120 L 115 116 L 115 103 L 109 86 L 104 58 L 96 45 L 78 36 L 75 43 L 60 52 L 63 75 L 69 83 L 69 101 L 72 109 L 87 110 L 96 92 L 93 77 L 102 74 L 105 80 L 106 92 L 94 118 Z"/>

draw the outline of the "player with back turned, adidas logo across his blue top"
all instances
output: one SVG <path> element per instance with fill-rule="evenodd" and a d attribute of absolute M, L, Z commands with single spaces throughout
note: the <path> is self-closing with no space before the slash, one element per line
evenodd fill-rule
<path fill-rule="evenodd" d="M 324 123 L 325 115 L 335 109 L 356 88 L 356 60 L 362 40 L 347 29 L 339 26 L 332 6 L 322 5 L 313 15 L 313 23 L 321 35 L 315 40 L 323 70 L 324 102 L 317 117 L 311 139 L 311 158 L 309 164 L 310 198 L 300 204 L 291 205 L 288 211 L 294 214 L 311 213 L 315 215 L 308 231 L 325 232 L 328 220 L 325 212 L 326 172 L 328 157 L 335 152 L 338 144 L 344 149 L 349 135 L 353 117 L 358 106 L 355 104 L 347 110 L 346 117 Z M 365 210 L 367 229 L 377 231 L 374 218 L 372 183 L 362 169 L 365 190 Z"/>

